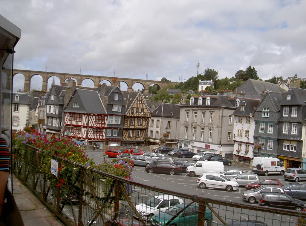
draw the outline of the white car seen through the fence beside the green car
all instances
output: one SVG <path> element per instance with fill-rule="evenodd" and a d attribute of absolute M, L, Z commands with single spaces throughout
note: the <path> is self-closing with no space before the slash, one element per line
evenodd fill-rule
<path fill-rule="evenodd" d="M 169 207 L 177 205 L 179 203 L 184 203 L 184 201 L 174 195 L 157 195 L 151 197 L 144 203 L 135 206 L 141 217 L 147 222 L 151 221 L 151 217 L 158 213 L 165 212 Z M 138 218 L 135 213 L 133 213 L 135 218 Z"/>

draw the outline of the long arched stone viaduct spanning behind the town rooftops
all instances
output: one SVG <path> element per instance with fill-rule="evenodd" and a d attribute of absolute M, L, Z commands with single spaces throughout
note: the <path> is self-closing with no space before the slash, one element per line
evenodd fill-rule
<path fill-rule="evenodd" d="M 24 76 L 24 91 L 30 91 L 31 87 L 31 78 L 34 75 L 40 75 L 43 78 L 43 88 L 42 91 L 47 92 L 47 83 L 48 79 L 52 76 L 59 78 L 60 83 L 65 83 L 65 80 L 74 78 L 77 81 L 77 86 L 81 86 L 82 81 L 85 79 L 90 79 L 94 83 L 94 88 L 97 88 L 101 81 L 107 80 L 111 84 L 120 84 L 120 82 L 126 83 L 128 91 L 132 91 L 132 86 L 135 83 L 140 83 L 144 87 L 144 95 L 147 95 L 149 92 L 149 86 L 155 84 L 160 88 L 165 87 L 168 82 L 161 82 L 155 80 L 144 80 L 144 79 L 130 79 L 130 78 L 118 78 L 118 77 L 107 77 L 107 76 L 95 76 L 95 75 L 80 75 L 80 74 L 68 74 L 68 73 L 58 73 L 58 72 L 41 72 L 41 71 L 28 71 L 28 70 L 13 70 L 13 78 L 16 74 L 22 74 Z"/>

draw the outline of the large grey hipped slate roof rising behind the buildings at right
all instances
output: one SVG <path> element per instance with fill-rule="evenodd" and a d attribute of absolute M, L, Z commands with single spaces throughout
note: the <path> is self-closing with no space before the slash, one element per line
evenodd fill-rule
<path fill-rule="evenodd" d="M 284 92 L 284 90 L 278 84 L 255 79 L 246 80 L 239 87 L 237 87 L 234 92 L 244 92 L 245 98 L 260 99 L 260 94 L 262 94 L 264 91 L 269 91 L 272 93 Z"/>

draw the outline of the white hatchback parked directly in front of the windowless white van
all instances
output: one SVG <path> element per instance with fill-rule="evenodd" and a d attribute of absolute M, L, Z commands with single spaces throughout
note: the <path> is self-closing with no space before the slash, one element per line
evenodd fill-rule
<path fill-rule="evenodd" d="M 207 187 L 225 189 L 226 191 L 238 190 L 238 183 L 222 176 L 219 173 L 203 173 L 196 183 L 201 189 Z"/>

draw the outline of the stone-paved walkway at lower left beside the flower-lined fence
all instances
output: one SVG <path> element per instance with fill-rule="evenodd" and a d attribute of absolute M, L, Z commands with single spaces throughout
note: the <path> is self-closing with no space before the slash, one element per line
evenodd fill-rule
<path fill-rule="evenodd" d="M 25 226 L 63 225 L 14 174 L 13 188 L 13 195 Z"/>

